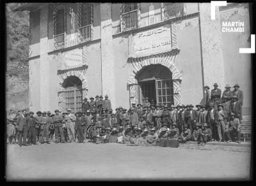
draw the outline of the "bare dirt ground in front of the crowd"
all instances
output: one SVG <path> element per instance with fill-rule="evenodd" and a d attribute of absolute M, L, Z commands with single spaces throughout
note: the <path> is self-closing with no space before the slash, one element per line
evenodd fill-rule
<path fill-rule="evenodd" d="M 250 147 L 225 149 L 184 144 L 8 145 L 6 180 L 248 180 Z"/>

